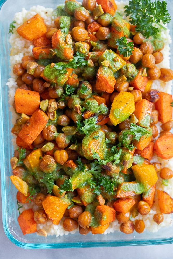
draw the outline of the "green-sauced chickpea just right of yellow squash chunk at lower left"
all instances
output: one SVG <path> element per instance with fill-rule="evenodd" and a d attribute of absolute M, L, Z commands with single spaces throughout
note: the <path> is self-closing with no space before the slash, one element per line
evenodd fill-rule
<path fill-rule="evenodd" d="M 53 156 L 45 155 L 42 157 L 42 161 L 40 163 L 39 168 L 44 173 L 51 173 L 56 168 L 56 161 L 54 160 Z"/>

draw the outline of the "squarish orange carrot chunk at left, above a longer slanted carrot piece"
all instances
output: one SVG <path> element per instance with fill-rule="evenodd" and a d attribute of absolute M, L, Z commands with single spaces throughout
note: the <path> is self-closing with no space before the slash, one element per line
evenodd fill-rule
<path fill-rule="evenodd" d="M 40 105 L 38 92 L 17 88 L 15 92 L 15 109 L 18 113 L 32 115 Z"/>

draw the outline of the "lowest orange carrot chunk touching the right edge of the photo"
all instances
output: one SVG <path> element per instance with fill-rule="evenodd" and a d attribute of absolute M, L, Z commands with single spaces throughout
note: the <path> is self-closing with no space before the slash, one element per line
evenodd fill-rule
<path fill-rule="evenodd" d="M 158 206 L 161 213 L 173 213 L 173 199 L 164 191 L 157 190 Z"/>

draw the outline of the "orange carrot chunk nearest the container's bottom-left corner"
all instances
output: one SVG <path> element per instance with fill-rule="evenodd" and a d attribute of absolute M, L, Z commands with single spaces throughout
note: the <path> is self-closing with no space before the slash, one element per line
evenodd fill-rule
<path fill-rule="evenodd" d="M 34 220 L 34 212 L 32 209 L 24 210 L 17 218 L 23 235 L 37 232 L 37 223 Z"/>

